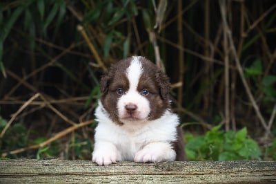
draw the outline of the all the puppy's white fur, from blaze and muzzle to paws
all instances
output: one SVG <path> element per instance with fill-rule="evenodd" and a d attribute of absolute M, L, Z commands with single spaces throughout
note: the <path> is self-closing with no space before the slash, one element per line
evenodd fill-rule
<path fill-rule="evenodd" d="M 109 113 L 101 102 L 95 111 L 97 128 L 95 129 L 95 147 L 92 161 L 98 165 L 110 165 L 117 160 L 134 160 L 135 162 L 160 162 L 175 160 L 176 154 L 171 142 L 177 140 L 178 116 L 169 110 L 156 120 L 148 120 L 150 102 L 137 91 L 139 77 L 143 72 L 139 57 L 132 57 L 127 69 L 130 89 L 119 98 L 117 108 L 118 125 L 109 118 Z M 135 120 L 125 119 L 125 105 L 137 105 Z"/>

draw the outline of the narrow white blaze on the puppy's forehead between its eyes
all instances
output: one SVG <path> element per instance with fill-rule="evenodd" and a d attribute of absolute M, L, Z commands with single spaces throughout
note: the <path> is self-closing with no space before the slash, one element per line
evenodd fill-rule
<path fill-rule="evenodd" d="M 129 91 L 133 91 L 137 89 L 139 78 L 143 72 L 143 68 L 140 62 L 141 56 L 133 56 L 130 66 L 126 71 L 126 75 L 128 76 L 128 81 L 130 83 Z"/>

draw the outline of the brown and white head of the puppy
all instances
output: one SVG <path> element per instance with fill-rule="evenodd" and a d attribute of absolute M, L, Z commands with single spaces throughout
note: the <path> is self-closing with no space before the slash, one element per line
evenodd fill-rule
<path fill-rule="evenodd" d="M 141 56 L 123 59 L 101 78 L 101 104 L 119 125 L 160 118 L 169 106 L 168 77 Z"/>

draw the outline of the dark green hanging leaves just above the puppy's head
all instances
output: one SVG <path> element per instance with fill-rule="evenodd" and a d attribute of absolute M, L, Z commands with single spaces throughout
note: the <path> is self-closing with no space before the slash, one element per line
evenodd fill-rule
<path fill-rule="evenodd" d="M 87 27 L 96 24 L 104 34 L 101 48 L 103 59 L 108 59 L 110 52 L 116 53 L 117 57 L 128 57 L 130 52 L 130 39 L 121 30 L 124 20 L 131 21 L 138 15 L 137 5 L 134 0 L 121 1 L 95 1 L 93 7 L 88 7 L 88 13 L 84 15 L 82 24 Z"/>

